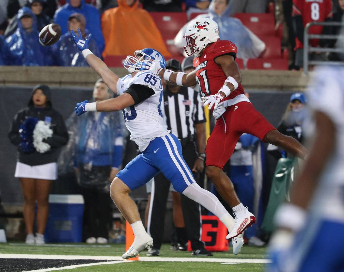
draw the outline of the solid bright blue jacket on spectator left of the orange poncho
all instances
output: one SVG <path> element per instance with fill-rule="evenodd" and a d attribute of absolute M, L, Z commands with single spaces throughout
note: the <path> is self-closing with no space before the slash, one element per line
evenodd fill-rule
<path fill-rule="evenodd" d="M 80 8 L 74 8 L 69 4 L 69 0 L 61 8 L 56 10 L 54 22 L 61 26 L 62 35 L 68 32 L 68 18 L 73 13 L 81 13 L 86 18 L 86 29 L 92 33 L 92 38 L 96 41 L 99 51 L 104 50 L 104 37 L 101 33 L 100 16 L 98 10 L 92 5 L 86 4 L 81 0 Z"/>

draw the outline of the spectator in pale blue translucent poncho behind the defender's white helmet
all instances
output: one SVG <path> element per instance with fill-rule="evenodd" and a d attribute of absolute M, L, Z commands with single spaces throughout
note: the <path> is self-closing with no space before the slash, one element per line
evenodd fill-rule
<path fill-rule="evenodd" d="M 220 39 L 231 41 L 236 45 L 238 58 L 257 58 L 265 50 L 265 43 L 248 30 L 239 19 L 228 16 L 230 13 L 228 1 L 212 1 L 209 5 L 209 13 L 198 16 L 210 18 L 218 24 Z M 180 52 L 183 54 L 185 53 L 183 47 L 186 46 L 186 41 L 183 38 L 186 26 L 187 24 L 182 27 L 174 38 L 174 44 L 181 48 Z"/>

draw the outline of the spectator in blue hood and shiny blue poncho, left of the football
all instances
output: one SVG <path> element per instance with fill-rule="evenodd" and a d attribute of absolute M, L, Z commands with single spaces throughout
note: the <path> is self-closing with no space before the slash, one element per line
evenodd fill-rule
<path fill-rule="evenodd" d="M 18 29 L 6 38 L 9 65 L 44 66 L 51 64 L 50 48 L 39 43 L 36 18 L 28 7 L 18 11 Z"/>

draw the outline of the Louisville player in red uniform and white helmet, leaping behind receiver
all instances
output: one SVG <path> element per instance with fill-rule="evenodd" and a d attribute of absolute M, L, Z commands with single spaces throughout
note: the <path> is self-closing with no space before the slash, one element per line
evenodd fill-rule
<path fill-rule="evenodd" d="M 217 191 L 232 207 L 235 225 L 226 237 L 232 239 L 256 222 L 255 216 L 238 199 L 232 181 L 223 172 L 225 163 L 243 133 L 257 136 L 272 145 L 304 158 L 307 150 L 294 138 L 277 131 L 255 108 L 244 94 L 241 73 L 235 62 L 237 48 L 229 41 L 219 41 L 217 24 L 209 18 L 192 20 L 185 36 L 186 53 L 194 55 L 196 70 L 186 74 L 162 69 L 152 61 L 150 72 L 180 86 L 200 84 L 204 105 L 209 104 L 217 119 L 206 146 L 206 174 Z"/>

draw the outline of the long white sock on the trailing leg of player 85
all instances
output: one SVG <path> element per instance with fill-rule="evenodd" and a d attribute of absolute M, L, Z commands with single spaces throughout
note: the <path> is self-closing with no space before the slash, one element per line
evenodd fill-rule
<path fill-rule="evenodd" d="M 200 185 L 194 182 L 187 186 L 183 192 L 183 195 L 189 197 L 197 203 L 200 203 L 208 211 L 215 214 L 229 231 L 233 229 L 233 217 L 230 216 L 225 207 L 214 194 L 203 189 Z"/>

